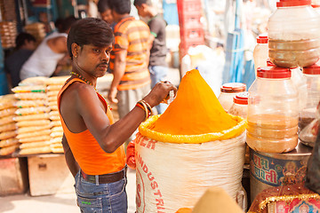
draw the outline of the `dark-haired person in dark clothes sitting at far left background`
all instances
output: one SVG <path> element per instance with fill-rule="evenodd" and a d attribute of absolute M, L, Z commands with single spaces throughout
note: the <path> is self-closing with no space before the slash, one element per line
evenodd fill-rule
<path fill-rule="evenodd" d="M 36 38 L 22 32 L 16 37 L 15 43 L 15 51 L 4 60 L 4 70 L 8 74 L 11 87 L 20 83 L 20 69 L 36 49 Z"/>

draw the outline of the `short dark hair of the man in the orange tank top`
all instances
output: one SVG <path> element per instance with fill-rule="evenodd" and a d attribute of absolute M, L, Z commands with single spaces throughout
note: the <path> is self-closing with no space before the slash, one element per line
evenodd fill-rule
<path fill-rule="evenodd" d="M 72 43 L 76 43 L 80 47 L 83 47 L 86 44 L 107 46 L 110 43 L 113 43 L 113 41 L 114 35 L 112 29 L 108 26 L 106 21 L 95 18 L 77 20 L 68 33 L 68 54 L 72 59 Z"/>

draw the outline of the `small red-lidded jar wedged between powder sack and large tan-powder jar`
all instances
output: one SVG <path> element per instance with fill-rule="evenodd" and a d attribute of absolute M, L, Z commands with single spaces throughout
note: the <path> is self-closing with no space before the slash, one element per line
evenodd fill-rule
<path fill-rule="evenodd" d="M 234 103 L 229 109 L 228 114 L 233 114 L 246 119 L 248 114 L 248 97 L 249 93 L 247 91 L 236 94 L 233 98 Z"/>

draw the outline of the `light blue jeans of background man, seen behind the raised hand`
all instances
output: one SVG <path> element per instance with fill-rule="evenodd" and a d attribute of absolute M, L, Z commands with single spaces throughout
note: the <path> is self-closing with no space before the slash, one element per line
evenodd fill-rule
<path fill-rule="evenodd" d="M 156 83 L 164 81 L 166 75 L 168 74 L 168 67 L 149 66 L 148 70 L 150 72 L 151 88 L 154 88 Z M 158 112 L 158 114 L 163 114 L 167 107 L 168 105 L 166 104 L 159 104 L 156 106 L 156 111 Z"/>

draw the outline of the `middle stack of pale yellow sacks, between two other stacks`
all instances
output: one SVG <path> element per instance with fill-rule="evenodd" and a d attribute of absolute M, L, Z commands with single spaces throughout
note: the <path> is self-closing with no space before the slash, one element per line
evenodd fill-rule
<path fill-rule="evenodd" d="M 29 78 L 12 89 L 18 99 L 14 120 L 18 126 L 16 138 L 20 142 L 19 154 L 44 154 L 52 151 L 50 108 L 45 94 L 45 80 L 44 77 Z"/>

